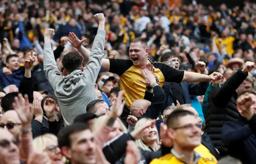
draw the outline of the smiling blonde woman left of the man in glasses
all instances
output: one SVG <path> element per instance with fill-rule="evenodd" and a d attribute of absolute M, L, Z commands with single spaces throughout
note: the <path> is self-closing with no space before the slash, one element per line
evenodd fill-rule
<path fill-rule="evenodd" d="M 152 119 L 149 119 L 149 118 L 140 119 L 136 123 L 134 130 L 139 129 L 145 123 L 150 122 L 150 121 L 152 121 Z M 136 140 L 136 144 L 143 150 L 155 152 L 160 148 L 159 136 L 158 136 L 158 131 L 157 131 L 156 125 L 152 125 L 151 127 L 148 127 L 148 131 L 149 131 L 148 134 L 146 134 L 142 138 Z"/>

